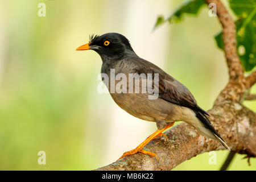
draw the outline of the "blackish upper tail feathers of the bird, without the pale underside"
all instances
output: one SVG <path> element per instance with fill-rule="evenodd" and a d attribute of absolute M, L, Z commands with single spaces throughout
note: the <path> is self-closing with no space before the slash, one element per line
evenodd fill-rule
<path fill-rule="evenodd" d="M 201 110 L 203 110 L 203 109 L 201 109 Z M 220 135 L 217 133 L 217 131 L 212 126 L 212 123 L 210 123 L 209 119 L 205 116 L 205 113 L 207 113 L 207 112 L 204 111 L 202 113 L 201 110 L 199 110 L 199 109 L 197 109 L 196 111 L 194 110 L 194 112 L 196 113 L 196 117 L 204 124 L 205 128 L 210 130 L 210 132 L 214 135 L 214 139 L 218 140 L 222 144 L 222 146 L 224 146 L 227 150 L 230 151 L 229 146 L 226 144 L 224 139 L 222 139 L 220 137 Z M 209 114 L 207 113 L 207 115 L 209 115 Z"/>

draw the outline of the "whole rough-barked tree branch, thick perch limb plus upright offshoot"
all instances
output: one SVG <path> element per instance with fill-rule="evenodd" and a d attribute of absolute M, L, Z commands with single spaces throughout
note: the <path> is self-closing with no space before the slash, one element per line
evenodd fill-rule
<path fill-rule="evenodd" d="M 217 97 L 213 108 L 208 111 L 209 119 L 233 152 L 255 157 L 256 113 L 243 106 L 242 101 L 249 96 L 250 87 L 256 82 L 256 73 L 244 76 L 237 55 L 236 27 L 225 6 L 220 0 L 205 2 L 216 3 L 229 68 L 229 82 Z M 159 162 L 151 156 L 135 154 L 97 170 L 170 170 L 198 154 L 224 149 L 219 142 L 199 134 L 187 123 L 172 127 L 165 134 L 168 140 L 157 138 L 144 147 L 144 150 L 154 151 Z"/>

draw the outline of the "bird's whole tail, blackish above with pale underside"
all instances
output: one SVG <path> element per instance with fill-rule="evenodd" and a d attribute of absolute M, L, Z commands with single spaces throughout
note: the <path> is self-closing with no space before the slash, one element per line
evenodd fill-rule
<path fill-rule="evenodd" d="M 222 144 L 222 146 L 224 146 L 227 150 L 230 151 L 228 144 L 226 144 L 224 139 L 222 139 L 220 137 L 220 135 L 217 133 L 217 131 L 212 126 L 212 123 L 210 123 L 209 119 L 205 115 L 206 112 L 204 111 L 205 113 L 202 113 L 199 110 L 197 110 L 197 111 L 194 110 L 194 112 L 196 113 L 196 117 L 203 123 L 203 127 L 201 127 L 201 129 L 199 129 L 201 131 L 201 133 L 203 133 L 204 135 L 207 135 L 208 137 L 210 137 L 212 139 L 218 140 Z"/>

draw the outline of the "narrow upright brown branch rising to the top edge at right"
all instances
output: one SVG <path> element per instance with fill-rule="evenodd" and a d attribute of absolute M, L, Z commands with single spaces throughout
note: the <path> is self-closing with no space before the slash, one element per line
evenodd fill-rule
<path fill-rule="evenodd" d="M 229 83 L 222 90 L 216 102 L 242 101 L 245 92 L 244 69 L 237 54 L 236 25 L 220 0 L 205 0 L 216 4 L 216 14 L 223 27 L 223 43 L 226 63 L 229 68 Z"/>

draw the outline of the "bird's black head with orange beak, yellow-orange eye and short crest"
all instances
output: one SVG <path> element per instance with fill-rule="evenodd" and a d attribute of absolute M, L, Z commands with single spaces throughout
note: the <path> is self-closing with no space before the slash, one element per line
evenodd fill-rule
<path fill-rule="evenodd" d="M 121 59 L 125 55 L 136 55 L 129 40 L 117 33 L 108 33 L 101 36 L 91 35 L 89 43 L 80 46 L 76 50 L 89 49 L 96 51 L 103 61 Z"/>

